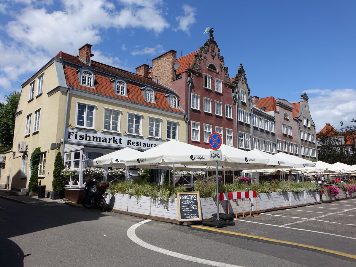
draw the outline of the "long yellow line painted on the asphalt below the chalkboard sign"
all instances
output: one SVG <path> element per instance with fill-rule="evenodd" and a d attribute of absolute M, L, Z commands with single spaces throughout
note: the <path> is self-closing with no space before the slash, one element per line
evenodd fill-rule
<path fill-rule="evenodd" d="M 314 247 L 314 246 L 309 246 L 309 245 L 304 245 L 304 244 L 299 244 L 299 243 L 294 243 L 294 242 L 289 242 L 289 241 L 283 241 L 283 240 L 278 240 L 278 239 L 272 239 L 272 238 L 267 238 L 267 237 L 262 237 L 262 236 L 246 235 L 246 234 L 241 234 L 241 233 L 237 233 L 237 232 L 225 231 L 225 230 L 220 230 L 220 229 L 215 229 L 215 228 L 210 228 L 210 227 L 205 227 L 205 226 L 192 226 L 192 227 L 205 229 L 205 230 L 209 230 L 209 231 L 220 232 L 220 233 L 224 233 L 224 234 L 245 236 L 245 237 L 251 237 L 251 238 L 255 238 L 255 239 L 271 241 L 271 242 L 278 242 L 278 243 L 283 243 L 283 244 L 288 244 L 288 245 L 307 247 L 307 248 L 312 248 L 314 250 L 320 250 L 320 251 L 356 259 L 356 255 L 352 255 L 352 254 L 348 254 L 348 253 L 344 253 L 344 252 L 340 252 L 340 251 L 335 251 L 335 250 L 328 250 L 328 249 L 322 248 L 322 247 Z"/>

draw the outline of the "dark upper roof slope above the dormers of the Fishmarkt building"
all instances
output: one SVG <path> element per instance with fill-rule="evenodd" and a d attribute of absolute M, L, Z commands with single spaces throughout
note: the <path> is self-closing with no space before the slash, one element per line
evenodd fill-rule
<path fill-rule="evenodd" d="M 142 84 L 142 86 L 148 85 L 151 87 L 156 87 L 156 88 L 162 89 L 164 91 L 167 91 L 168 93 L 173 93 L 173 90 L 169 90 L 167 87 L 157 84 L 155 81 L 153 81 L 149 78 L 143 77 L 141 75 L 137 75 L 135 73 L 127 72 L 122 69 L 114 68 L 114 67 L 102 64 L 100 62 L 91 61 L 91 66 L 89 66 L 89 65 L 85 64 L 83 61 L 81 61 L 78 57 L 67 54 L 67 53 L 63 53 L 63 52 L 59 52 L 56 57 L 62 57 L 64 60 L 73 62 L 75 64 L 89 67 L 94 70 L 100 70 L 102 72 L 106 72 L 106 73 L 114 75 L 114 76 L 119 76 L 124 79 L 132 80 L 134 82 Z"/>

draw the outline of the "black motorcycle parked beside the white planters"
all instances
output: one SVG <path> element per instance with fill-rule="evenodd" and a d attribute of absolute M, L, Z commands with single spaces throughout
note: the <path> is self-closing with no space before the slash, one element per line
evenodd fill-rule
<path fill-rule="evenodd" d="M 85 183 L 84 195 L 82 200 L 82 205 L 84 208 L 93 209 L 94 206 L 98 206 L 101 211 L 106 210 L 105 198 L 108 195 L 106 190 L 109 188 L 109 183 L 103 182 L 98 183 L 94 178 L 90 179 Z"/>

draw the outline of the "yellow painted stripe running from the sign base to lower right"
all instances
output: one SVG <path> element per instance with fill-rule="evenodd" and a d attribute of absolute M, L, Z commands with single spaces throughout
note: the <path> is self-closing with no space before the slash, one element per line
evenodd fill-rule
<path fill-rule="evenodd" d="M 305 245 L 305 244 L 299 244 L 299 243 L 295 243 L 295 242 L 272 239 L 272 238 L 262 237 L 262 236 L 246 235 L 246 234 L 242 234 L 242 233 L 225 231 L 225 230 L 220 230 L 220 229 L 214 229 L 214 228 L 205 227 L 205 226 L 192 226 L 192 228 L 208 230 L 208 231 L 221 233 L 221 234 L 225 234 L 225 235 L 236 235 L 237 237 L 246 238 L 248 240 L 266 242 L 266 243 L 274 244 L 274 245 L 287 246 L 287 247 L 293 247 L 293 248 L 300 248 L 300 249 L 309 250 L 309 251 L 313 251 L 313 252 L 318 252 L 318 253 L 322 253 L 322 254 L 333 256 L 333 257 L 337 257 L 337 258 L 342 258 L 344 260 L 350 260 L 350 259 L 354 259 L 355 260 L 356 259 L 356 255 L 352 255 L 352 254 L 348 254 L 348 253 L 344 253 L 344 252 L 340 252 L 340 251 L 335 251 L 335 250 L 329 250 L 329 249 L 321 248 L 321 247 L 315 247 L 315 246 L 309 246 L 309 245 Z M 349 259 L 347 259 L 347 258 L 349 258 Z"/>

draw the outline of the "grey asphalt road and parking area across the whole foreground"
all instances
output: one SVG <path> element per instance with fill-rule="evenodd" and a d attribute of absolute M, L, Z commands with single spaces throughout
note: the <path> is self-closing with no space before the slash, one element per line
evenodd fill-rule
<path fill-rule="evenodd" d="M 356 199 L 211 230 L 67 205 L 0 206 L 1 266 L 356 266 Z"/>

